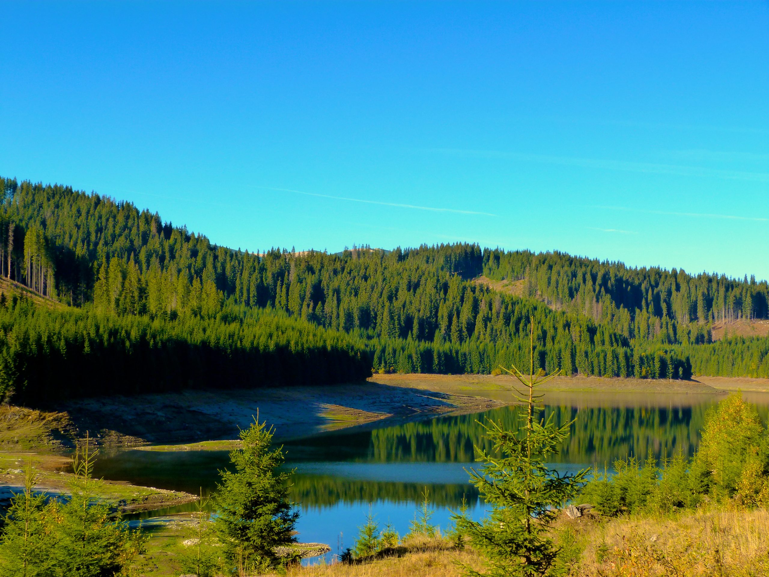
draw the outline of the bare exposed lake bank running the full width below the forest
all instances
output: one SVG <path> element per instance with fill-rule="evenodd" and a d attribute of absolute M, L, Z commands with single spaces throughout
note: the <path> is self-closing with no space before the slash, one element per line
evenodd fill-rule
<path fill-rule="evenodd" d="M 0 449 L 62 452 L 86 432 L 102 446 L 230 449 L 232 444 L 221 441 L 236 439 L 238 429 L 248 427 L 257 415 L 275 426 L 277 440 L 298 439 L 352 426 L 375 426 L 382 419 L 493 409 L 514 402 L 514 384 L 508 375 L 375 375 L 368 382 L 349 385 L 78 399 L 56 405 L 50 412 L 2 407 Z M 712 395 L 737 389 L 747 394 L 769 392 L 769 379 L 698 377 L 671 381 L 577 376 L 554 379 L 543 391 L 553 399 L 558 392 L 670 399 L 670 395 Z"/>

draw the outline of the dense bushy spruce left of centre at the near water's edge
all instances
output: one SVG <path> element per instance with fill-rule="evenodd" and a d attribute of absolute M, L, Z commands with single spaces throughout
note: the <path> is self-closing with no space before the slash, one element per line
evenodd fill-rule
<path fill-rule="evenodd" d="M 276 565 L 275 548 L 295 542 L 299 513 L 288 499 L 291 472 L 280 472 L 282 448 L 271 449 L 265 422 L 242 430 L 241 449 L 230 452 L 233 471 L 221 471 L 215 529 L 225 556 L 244 571 Z"/>

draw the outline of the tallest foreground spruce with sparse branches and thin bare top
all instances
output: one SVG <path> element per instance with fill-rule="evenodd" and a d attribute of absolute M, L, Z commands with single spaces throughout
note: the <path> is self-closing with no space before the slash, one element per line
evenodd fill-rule
<path fill-rule="evenodd" d="M 555 425 L 552 415 L 537 419 L 543 395 L 534 390 L 560 371 L 534 374 L 534 319 L 531 319 L 531 372 L 524 376 L 514 365 L 513 375 L 525 390 L 518 392 L 527 411 L 520 412 L 520 425 L 505 430 L 501 422 L 480 423 L 493 446 L 492 452 L 475 448 L 480 469 L 471 468 L 471 482 L 478 487 L 491 513 L 481 522 L 458 517 L 471 544 L 485 557 L 485 572 L 465 566 L 467 575 L 477 577 L 541 577 L 552 575 L 558 548 L 548 536 L 556 510 L 573 498 L 584 483 L 588 469 L 561 475 L 546 463 L 558 452 L 569 435 L 572 422 Z"/>

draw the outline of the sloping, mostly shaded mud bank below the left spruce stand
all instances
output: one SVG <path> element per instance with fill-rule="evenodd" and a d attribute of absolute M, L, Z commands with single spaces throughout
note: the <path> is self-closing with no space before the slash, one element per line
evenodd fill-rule
<path fill-rule="evenodd" d="M 78 399 L 61 403 L 55 413 L 48 414 L 58 415 L 57 427 L 66 431 L 70 445 L 88 431 L 102 446 L 138 447 L 235 439 L 238 430 L 248 427 L 257 415 L 275 427 L 277 440 L 287 440 L 381 419 L 482 411 L 500 404 L 458 391 L 432 392 L 371 379 L 324 387 L 195 390 Z M 45 421 L 45 413 L 38 417 L 41 421 Z M 35 428 L 38 437 L 41 428 Z"/>

